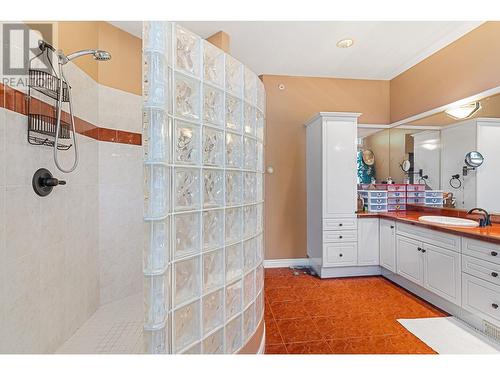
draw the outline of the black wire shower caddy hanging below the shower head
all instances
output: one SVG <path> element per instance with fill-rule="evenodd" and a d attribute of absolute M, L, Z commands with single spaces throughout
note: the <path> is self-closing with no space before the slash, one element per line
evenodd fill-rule
<path fill-rule="evenodd" d="M 28 68 L 28 142 L 32 145 L 43 145 L 54 147 L 55 134 L 57 127 L 57 113 L 59 109 L 59 93 L 60 82 L 62 78 L 57 76 L 56 70 L 52 63 L 51 52 L 54 52 L 50 47 L 43 43 L 39 43 L 40 53 L 29 61 Z M 35 61 L 45 61 L 49 69 L 39 69 L 33 67 Z M 44 96 L 52 99 L 54 104 L 50 110 L 42 110 L 42 106 L 38 106 L 38 110 L 34 112 L 32 105 L 33 99 L 32 90 L 37 91 Z M 62 82 L 62 103 L 69 102 L 71 86 L 66 81 Z M 62 104 L 61 103 L 61 104 Z M 59 131 L 59 139 L 70 139 L 71 127 L 67 121 L 61 116 L 61 128 Z M 59 150 L 69 150 L 72 144 L 58 143 Z"/>

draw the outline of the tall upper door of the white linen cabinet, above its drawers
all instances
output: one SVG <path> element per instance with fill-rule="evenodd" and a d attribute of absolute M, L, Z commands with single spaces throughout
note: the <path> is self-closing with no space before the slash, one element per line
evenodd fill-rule
<path fill-rule="evenodd" d="M 323 218 L 354 216 L 357 207 L 355 119 L 323 123 Z"/>

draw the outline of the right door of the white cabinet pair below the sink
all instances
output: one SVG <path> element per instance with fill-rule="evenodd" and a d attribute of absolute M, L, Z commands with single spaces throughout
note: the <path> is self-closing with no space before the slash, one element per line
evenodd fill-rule
<path fill-rule="evenodd" d="M 461 302 L 460 254 L 424 244 L 424 287 L 454 304 Z"/>

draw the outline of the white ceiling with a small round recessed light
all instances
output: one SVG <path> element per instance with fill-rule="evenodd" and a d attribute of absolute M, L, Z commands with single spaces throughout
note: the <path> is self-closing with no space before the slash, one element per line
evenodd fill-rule
<path fill-rule="evenodd" d="M 141 36 L 141 23 L 111 22 Z M 392 79 L 478 21 L 181 21 L 203 38 L 224 31 L 231 54 L 257 74 Z M 336 43 L 354 40 L 351 48 Z"/>

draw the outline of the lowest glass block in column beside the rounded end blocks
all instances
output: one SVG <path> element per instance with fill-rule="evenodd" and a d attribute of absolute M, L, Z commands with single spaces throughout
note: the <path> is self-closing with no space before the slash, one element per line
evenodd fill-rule
<path fill-rule="evenodd" d="M 173 331 L 174 353 L 179 353 L 201 338 L 200 301 L 174 311 Z"/>

